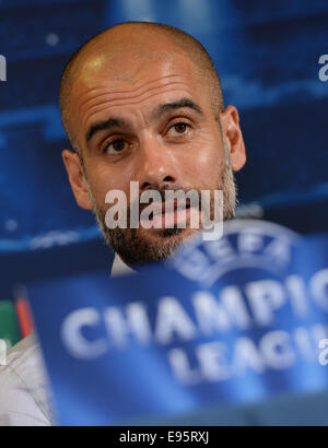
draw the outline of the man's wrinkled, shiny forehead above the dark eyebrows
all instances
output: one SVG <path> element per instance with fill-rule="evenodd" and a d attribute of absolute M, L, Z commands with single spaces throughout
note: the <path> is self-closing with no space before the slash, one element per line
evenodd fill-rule
<path fill-rule="evenodd" d="M 148 98 L 160 101 L 160 95 L 179 90 L 199 101 L 206 96 L 200 71 L 183 52 L 94 58 L 74 80 L 71 113 L 89 115 L 102 105 L 141 106 Z"/>

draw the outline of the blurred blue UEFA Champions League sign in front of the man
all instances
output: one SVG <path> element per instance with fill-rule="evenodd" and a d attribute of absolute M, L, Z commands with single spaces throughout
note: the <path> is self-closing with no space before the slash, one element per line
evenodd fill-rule
<path fill-rule="evenodd" d="M 28 287 L 59 424 L 328 391 L 328 237 L 232 221 L 166 264 Z"/>

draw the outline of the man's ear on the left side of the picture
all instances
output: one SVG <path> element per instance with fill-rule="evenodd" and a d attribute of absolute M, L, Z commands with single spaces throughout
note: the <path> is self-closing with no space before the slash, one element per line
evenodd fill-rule
<path fill-rule="evenodd" d="M 82 209 L 92 210 L 92 202 L 89 198 L 86 180 L 83 176 L 79 155 L 69 150 L 62 151 L 61 155 L 78 204 Z"/>

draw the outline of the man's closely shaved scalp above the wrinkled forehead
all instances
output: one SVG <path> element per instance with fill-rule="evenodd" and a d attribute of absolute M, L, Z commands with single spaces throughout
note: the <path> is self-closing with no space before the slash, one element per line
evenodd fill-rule
<path fill-rule="evenodd" d="M 127 80 L 138 64 L 183 54 L 194 63 L 195 70 L 209 86 L 213 114 L 219 117 L 223 110 L 223 95 L 214 64 L 203 46 L 189 34 L 162 24 L 127 22 L 115 25 L 87 40 L 72 56 L 65 68 L 59 93 L 61 120 L 67 135 L 74 149 L 77 142 L 70 116 L 71 96 L 74 83 L 84 71 L 92 76 L 104 63 L 110 67 L 112 75 Z M 87 76 L 86 76 L 87 78 Z"/>

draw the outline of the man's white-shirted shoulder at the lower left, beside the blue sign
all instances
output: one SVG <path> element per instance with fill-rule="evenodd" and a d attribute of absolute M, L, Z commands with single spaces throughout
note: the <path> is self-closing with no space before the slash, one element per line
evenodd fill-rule
<path fill-rule="evenodd" d="M 0 425 L 49 425 L 49 392 L 35 334 L 23 339 L 0 366 Z"/>

